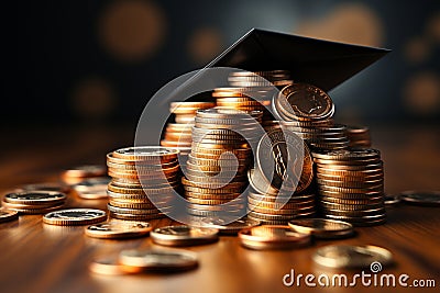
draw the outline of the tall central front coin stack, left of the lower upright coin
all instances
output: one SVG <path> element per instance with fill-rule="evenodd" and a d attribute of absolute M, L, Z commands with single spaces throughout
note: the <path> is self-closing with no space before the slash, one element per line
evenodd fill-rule
<path fill-rule="evenodd" d="M 223 108 L 197 111 L 186 179 L 183 179 L 190 215 L 243 214 L 245 198 L 240 195 L 248 185 L 251 145 L 258 142 L 263 132 L 261 119 L 257 111 Z"/>

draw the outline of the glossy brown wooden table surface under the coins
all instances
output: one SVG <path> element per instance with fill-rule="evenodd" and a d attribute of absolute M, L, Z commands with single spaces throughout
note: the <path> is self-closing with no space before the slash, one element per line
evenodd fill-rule
<path fill-rule="evenodd" d="M 134 131 L 123 128 L 52 129 L 21 135 L 7 132 L 8 145 L 0 155 L 0 192 L 24 183 L 57 180 L 59 171 L 84 164 L 105 164 L 107 151 L 130 145 Z M 386 191 L 440 190 L 440 137 L 438 128 L 373 128 L 374 145 L 385 161 Z M 396 138 L 397 137 L 397 138 Z M 422 148 L 421 148 L 422 146 Z M 69 194 L 69 206 L 105 209 L 105 200 L 80 200 Z M 382 226 L 356 228 L 356 236 L 342 240 L 317 240 L 296 250 L 256 251 L 240 246 L 237 237 L 185 249 L 197 252 L 200 266 L 177 274 L 105 277 L 88 271 L 97 256 L 117 255 L 122 249 L 156 247 L 148 237 L 103 240 L 84 235 L 84 227 L 58 227 L 42 223 L 41 215 L 23 215 L 0 224 L 0 292 L 370 292 L 399 288 L 287 288 L 283 277 L 295 273 L 346 273 L 314 264 L 318 247 L 330 244 L 377 245 L 389 249 L 395 266 L 383 273 L 406 273 L 415 279 L 433 279 L 440 286 L 440 207 L 400 204 L 388 209 Z M 169 219 L 152 222 L 168 225 Z M 414 292 L 415 288 L 405 289 Z M 420 292 L 437 292 L 419 289 Z"/>

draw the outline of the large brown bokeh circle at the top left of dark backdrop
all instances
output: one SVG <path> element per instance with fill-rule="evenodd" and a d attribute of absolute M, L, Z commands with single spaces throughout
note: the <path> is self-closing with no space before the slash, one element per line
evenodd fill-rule
<path fill-rule="evenodd" d="M 162 10 L 151 1 L 119 0 L 105 9 L 98 32 L 103 47 L 113 57 L 136 61 L 161 47 L 166 21 Z"/>

